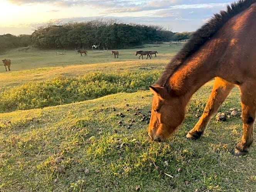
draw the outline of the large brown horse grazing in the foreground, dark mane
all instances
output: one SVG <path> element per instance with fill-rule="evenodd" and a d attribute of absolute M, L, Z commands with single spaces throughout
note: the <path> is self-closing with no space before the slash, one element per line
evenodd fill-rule
<path fill-rule="evenodd" d="M 246 155 L 253 142 L 256 113 L 256 0 L 239 0 L 227 6 L 199 30 L 170 61 L 153 92 L 148 134 L 163 141 L 182 123 L 192 95 L 215 77 L 204 113 L 188 139 L 204 133 L 211 116 L 234 86 L 241 92 L 243 135 L 233 150 Z"/>

